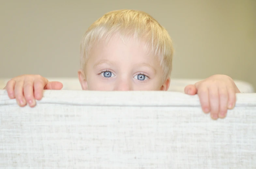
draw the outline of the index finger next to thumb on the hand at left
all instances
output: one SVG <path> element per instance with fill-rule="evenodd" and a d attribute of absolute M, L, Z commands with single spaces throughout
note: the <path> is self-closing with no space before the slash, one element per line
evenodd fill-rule
<path fill-rule="evenodd" d="M 37 100 L 41 100 L 43 97 L 43 90 L 48 83 L 46 78 L 37 78 L 34 82 L 34 94 Z"/>

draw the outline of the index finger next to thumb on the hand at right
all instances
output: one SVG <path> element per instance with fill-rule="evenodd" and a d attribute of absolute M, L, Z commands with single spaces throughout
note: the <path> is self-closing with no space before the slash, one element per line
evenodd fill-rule
<path fill-rule="evenodd" d="M 209 106 L 209 91 L 208 91 L 208 88 L 207 87 L 202 87 L 202 88 L 199 87 L 197 94 L 199 96 L 199 100 L 200 100 L 203 112 L 209 113 L 210 106 Z"/>

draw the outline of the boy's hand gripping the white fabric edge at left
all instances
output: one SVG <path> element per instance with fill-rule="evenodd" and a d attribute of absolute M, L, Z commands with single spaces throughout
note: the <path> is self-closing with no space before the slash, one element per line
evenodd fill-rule
<path fill-rule="evenodd" d="M 43 90 L 60 90 L 63 84 L 61 82 L 48 82 L 40 75 L 21 75 L 8 81 L 4 89 L 7 90 L 9 98 L 16 98 L 19 106 L 23 107 L 27 103 L 30 107 L 36 105 L 36 99 L 43 97 Z"/>

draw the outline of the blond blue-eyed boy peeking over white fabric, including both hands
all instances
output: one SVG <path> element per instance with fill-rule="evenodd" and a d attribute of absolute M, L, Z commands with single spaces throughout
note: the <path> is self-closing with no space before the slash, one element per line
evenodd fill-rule
<path fill-rule="evenodd" d="M 78 77 L 83 90 L 166 91 L 172 58 L 172 40 L 154 18 L 136 10 L 112 11 L 85 32 Z M 43 89 L 59 90 L 62 86 L 40 75 L 22 75 L 11 79 L 5 89 L 20 106 L 28 103 L 34 107 Z M 213 75 L 186 86 L 185 93 L 198 94 L 203 111 L 218 119 L 233 109 L 239 90 L 230 77 Z"/>

